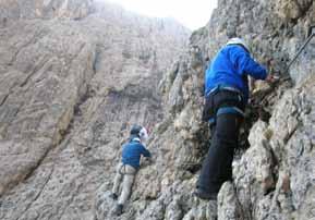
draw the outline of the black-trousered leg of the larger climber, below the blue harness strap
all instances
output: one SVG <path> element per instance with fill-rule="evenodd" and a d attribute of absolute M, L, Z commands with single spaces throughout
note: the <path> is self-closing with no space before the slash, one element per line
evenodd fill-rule
<path fill-rule="evenodd" d="M 211 145 L 197 182 L 197 188 L 205 197 L 216 195 L 222 183 L 232 178 L 232 160 L 238 146 L 240 121 L 237 114 L 217 117 Z"/>

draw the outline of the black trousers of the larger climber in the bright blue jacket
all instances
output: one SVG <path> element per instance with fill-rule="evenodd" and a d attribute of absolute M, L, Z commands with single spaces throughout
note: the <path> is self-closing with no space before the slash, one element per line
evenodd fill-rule
<path fill-rule="evenodd" d="M 244 110 L 245 105 L 239 95 L 232 91 L 218 91 L 206 100 L 205 110 L 215 118 L 211 125 L 211 144 L 197 181 L 197 188 L 206 193 L 218 193 L 223 182 L 232 179 L 234 148 L 239 144 L 238 137 L 243 120 L 243 117 L 237 113 L 216 115 L 221 107 L 238 107 Z"/>

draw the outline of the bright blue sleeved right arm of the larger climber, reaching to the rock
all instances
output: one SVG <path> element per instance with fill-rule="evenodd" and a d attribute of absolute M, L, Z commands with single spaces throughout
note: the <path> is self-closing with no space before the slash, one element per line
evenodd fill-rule
<path fill-rule="evenodd" d="M 232 52 L 232 62 L 238 68 L 240 74 L 246 74 L 255 80 L 266 80 L 267 70 L 251 58 L 250 53 L 242 48 Z"/>

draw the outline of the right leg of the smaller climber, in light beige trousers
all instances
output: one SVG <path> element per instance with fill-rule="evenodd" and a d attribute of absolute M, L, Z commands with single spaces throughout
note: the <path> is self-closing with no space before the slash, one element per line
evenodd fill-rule
<path fill-rule="evenodd" d="M 125 174 L 123 176 L 122 192 L 121 192 L 121 195 L 119 197 L 118 204 L 124 205 L 125 201 L 129 199 L 130 194 L 131 194 L 131 190 L 132 190 L 132 185 L 134 182 L 135 173 L 136 173 L 135 168 L 128 166 L 128 164 L 125 166 Z"/>

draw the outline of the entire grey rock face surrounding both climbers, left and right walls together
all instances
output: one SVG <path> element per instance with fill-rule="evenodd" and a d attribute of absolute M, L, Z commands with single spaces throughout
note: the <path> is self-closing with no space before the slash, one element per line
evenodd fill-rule
<path fill-rule="evenodd" d="M 184 28 L 93 5 L 80 21 L 2 20 L 1 219 L 315 219 L 314 41 L 287 71 L 315 23 L 313 1 L 219 0 L 172 65 Z M 281 80 L 253 85 L 242 137 L 250 132 L 250 147 L 218 201 L 203 201 L 192 192 L 210 142 L 201 120 L 205 60 L 232 36 Z M 114 166 L 135 122 L 153 129 L 154 162 L 117 218 Z"/>

